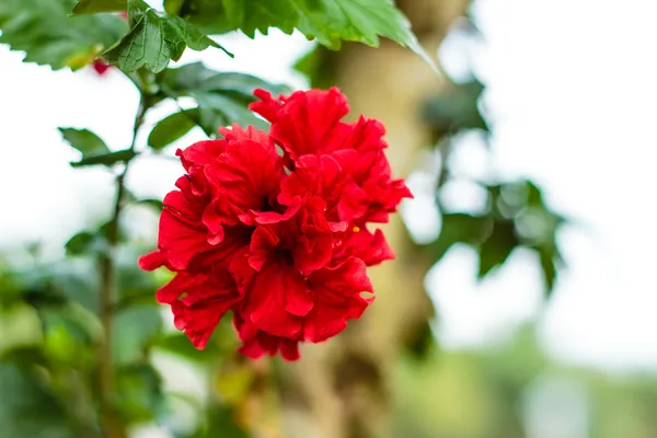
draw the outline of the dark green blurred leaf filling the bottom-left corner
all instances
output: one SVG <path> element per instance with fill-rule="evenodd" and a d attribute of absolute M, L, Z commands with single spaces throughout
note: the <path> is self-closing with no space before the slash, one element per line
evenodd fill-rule
<path fill-rule="evenodd" d="M 64 406 L 51 389 L 26 367 L 0 364 L 2 437 L 74 438 Z"/>

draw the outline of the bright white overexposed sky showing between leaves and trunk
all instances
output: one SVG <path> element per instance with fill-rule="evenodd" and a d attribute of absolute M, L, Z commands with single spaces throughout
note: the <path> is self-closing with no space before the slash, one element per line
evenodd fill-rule
<path fill-rule="evenodd" d="M 657 2 L 480 0 L 476 16 L 485 45 L 454 38 L 442 49 L 446 67 L 458 73 L 472 59 L 487 84 L 497 169 L 537 180 L 552 206 L 579 222 L 560 237 L 569 269 L 541 314 L 546 345 L 578 362 L 656 366 Z M 222 38 L 235 60 L 207 50 L 188 51 L 183 62 L 203 59 L 304 87 L 289 67 L 309 43 L 273 34 L 255 42 Z M 70 169 L 77 153 L 56 128 L 88 127 L 120 149 L 129 141 L 137 94 L 117 72 L 51 72 L 20 59 L 0 47 L 0 245 L 43 240 L 57 246 L 108 208 L 113 189 L 104 171 Z M 165 105 L 149 122 L 172 111 Z M 182 145 L 201 137 L 192 134 Z M 480 141 L 463 141 L 457 164 L 476 174 L 484 166 Z M 174 162 L 145 159 L 128 183 L 139 195 L 162 196 L 178 173 Z M 413 183 L 422 189 L 420 178 Z M 419 195 L 407 208 L 426 210 Z M 451 197 L 476 200 L 468 187 L 454 187 Z M 475 272 L 474 254 L 457 247 L 427 279 L 448 347 L 482 345 L 542 311 L 539 272 L 527 254 L 515 253 L 481 286 Z"/>

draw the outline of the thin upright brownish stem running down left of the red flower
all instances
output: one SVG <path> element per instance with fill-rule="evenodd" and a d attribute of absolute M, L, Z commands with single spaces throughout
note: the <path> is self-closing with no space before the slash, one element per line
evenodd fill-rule
<path fill-rule="evenodd" d="M 141 97 L 139 110 L 135 117 L 132 128 L 132 141 L 130 150 L 135 151 L 137 142 L 137 132 L 143 124 L 143 116 L 150 107 L 148 96 Z M 127 161 L 123 172 L 116 177 L 116 198 L 114 201 L 113 216 L 107 227 L 107 247 L 106 252 L 100 257 L 101 270 L 101 323 L 105 335 L 104 342 L 99 349 L 99 391 L 101 402 L 101 428 L 106 438 L 125 438 L 126 431 L 123 427 L 118 414 L 113 403 L 116 384 L 113 372 L 113 332 L 114 332 L 114 311 L 116 301 L 116 264 L 115 252 L 119 241 L 120 214 L 126 194 L 125 180 L 128 173 L 130 161 Z"/>

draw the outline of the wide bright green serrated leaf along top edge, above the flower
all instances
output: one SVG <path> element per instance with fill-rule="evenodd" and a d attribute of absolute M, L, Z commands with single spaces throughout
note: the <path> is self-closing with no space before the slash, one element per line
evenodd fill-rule
<path fill-rule="evenodd" d="M 420 55 L 435 68 L 411 31 L 408 20 L 391 0 L 165 0 L 170 14 L 178 14 L 207 34 L 240 30 L 250 37 L 278 27 L 287 34 L 298 28 L 332 49 L 342 41 L 379 46 L 390 38 Z"/>

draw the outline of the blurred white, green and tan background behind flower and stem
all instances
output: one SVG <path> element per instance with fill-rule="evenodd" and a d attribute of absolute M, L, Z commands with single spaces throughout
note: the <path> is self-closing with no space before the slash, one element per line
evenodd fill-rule
<path fill-rule="evenodd" d="M 397 260 L 371 269 L 378 299 L 362 320 L 299 362 L 250 361 L 229 323 L 196 351 L 154 302 L 169 275 L 136 266 L 180 175 L 173 154 L 203 130 L 136 160 L 127 185 L 152 203 L 126 209 L 118 252 L 126 436 L 657 437 L 657 3 L 397 4 L 442 81 L 392 43 L 334 53 L 275 31 L 217 37 L 234 60 L 183 56 L 292 88 L 337 84 L 354 116 L 384 122 L 415 199 L 385 228 Z M 79 153 L 57 127 L 123 148 L 139 95 L 115 69 L 22 58 L 0 45 L 0 437 L 96 437 L 89 253 L 114 175 L 71 169 Z M 159 104 L 139 141 L 176 110 Z"/>

